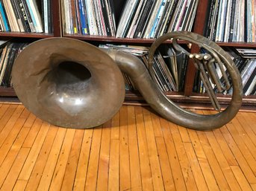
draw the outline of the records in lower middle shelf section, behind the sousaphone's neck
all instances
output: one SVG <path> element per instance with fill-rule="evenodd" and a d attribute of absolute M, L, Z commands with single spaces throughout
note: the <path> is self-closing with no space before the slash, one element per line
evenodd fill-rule
<path fill-rule="evenodd" d="M 147 66 L 149 48 L 127 45 L 100 45 L 101 48 L 113 48 L 128 52 L 137 56 Z M 162 49 L 164 51 L 162 51 Z M 175 52 L 175 50 L 166 45 L 154 55 L 153 71 L 158 87 L 162 91 L 183 91 L 184 75 L 187 68 L 187 56 Z M 127 91 L 134 91 L 131 79 L 124 74 L 125 88 Z"/>

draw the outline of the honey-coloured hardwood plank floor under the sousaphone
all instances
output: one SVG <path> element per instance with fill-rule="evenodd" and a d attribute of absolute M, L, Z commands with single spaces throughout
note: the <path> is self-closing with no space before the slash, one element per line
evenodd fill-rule
<path fill-rule="evenodd" d="M 208 112 L 208 111 L 199 111 Z M 220 129 L 122 106 L 96 129 L 51 126 L 0 104 L 0 190 L 256 190 L 256 113 Z"/>

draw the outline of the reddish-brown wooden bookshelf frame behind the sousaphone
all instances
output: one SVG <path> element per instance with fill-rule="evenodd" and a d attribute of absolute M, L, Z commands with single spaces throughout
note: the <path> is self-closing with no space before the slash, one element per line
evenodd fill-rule
<path fill-rule="evenodd" d="M 42 0 L 43 1 L 43 0 Z M 40 1 L 38 1 L 40 2 Z M 193 32 L 203 34 L 205 22 L 207 21 L 206 13 L 207 13 L 207 4 L 210 1 L 200 1 L 198 4 L 198 8 L 196 10 L 195 22 L 193 25 Z M 101 43 L 116 43 L 116 44 L 127 44 L 127 45 L 152 45 L 154 39 L 131 39 L 131 38 L 116 38 L 114 36 L 95 36 L 95 35 L 81 35 L 81 34 L 69 34 L 65 33 L 63 30 L 63 19 L 61 13 L 61 1 L 59 0 L 51 0 L 52 4 L 52 28 L 53 33 L 18 33 L 18 32 L 0 32 L 0 39 L 8 39 L 8 38 L 18 38 L 22 40 L 27 39 L 43 39 L 49 37 L 69 37 L 73 39 L 79 39 L 85 42 L 89 42 L 94 45 L 99 45 Z M 117 15 L 121 14 L 121 10 L 124 6 L 124 1 L 116 1 L 116 6 L 119 7 Z M 172 41 L 168 40 L 165 43 L 171 44 Z M 186 42 L 184 42 L 186 44 Z M 237 47 L 237 48 L 256 48 L 256 43 L 247 43 L 247 42 L 217 42 L 221 47 Z M 191 52 L 198 52 L 197 47 L 192 47 Z M 189 62 L 187 65 L 187 73 L 184 82 L 184 91 L 182 92 L 166 92 L 167 96 L 170 99 L 175 100 L 178 103 L 190 103 L 193 106 L 199 106 L 203 103 L 207 102 L 206 94 L 198 94 L 193 92 L 193 81 L 196 77 L 196 68 L 192 62 Z M 0 97 L 15 97 L 16 94 L 13 91 L 13 88 L 0 88 Z M 218 95 L 221 103 L 227 104 L 230 100 L 229 96 Z M 128 91 L 126 94 L 126 103 L 128 104 L 141 104 L 143 103 L 143 98 L 138 94 L 138 92 Z M 256 96 L 247 96 L 244 97 L 243 100 L 244 106 L 248 106 L 249 108 L 256 108 Z"/>

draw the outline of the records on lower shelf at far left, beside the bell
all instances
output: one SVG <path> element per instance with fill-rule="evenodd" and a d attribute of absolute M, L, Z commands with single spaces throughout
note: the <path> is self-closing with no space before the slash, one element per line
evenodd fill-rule
<path fill-rule="evenodd" d="M 22 42 L 7 42 L 1 46 L 0 57 L 0 83 L 3 87 L 12 86 L 11 82 L 11 70 L 13 68 L 13 62 L 16 56 L 22 49 L 24 49 L 28 43 Z"/>

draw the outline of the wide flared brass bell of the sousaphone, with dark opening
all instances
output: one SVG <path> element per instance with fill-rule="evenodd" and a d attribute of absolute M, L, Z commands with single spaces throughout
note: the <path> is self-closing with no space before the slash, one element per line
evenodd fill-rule
<path fill-rule="evenodd" d="M 13 88 L 24 106 L 56 126 L 99 126 L 125 97 L 113 59 L 86 42 L 49 38 L 31 43 L 13 65 Z"/>

